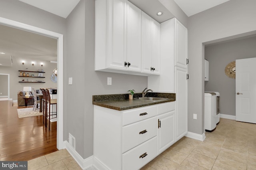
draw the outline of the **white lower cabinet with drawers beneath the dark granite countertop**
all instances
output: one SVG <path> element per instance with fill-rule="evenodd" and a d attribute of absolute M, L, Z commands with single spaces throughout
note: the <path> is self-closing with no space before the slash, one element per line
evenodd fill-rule
<path fill-rule="evenodd" d="M 116 111 L 94 105 L 94 166 L 138 170 L 176 142 L 175 102 Z"/>

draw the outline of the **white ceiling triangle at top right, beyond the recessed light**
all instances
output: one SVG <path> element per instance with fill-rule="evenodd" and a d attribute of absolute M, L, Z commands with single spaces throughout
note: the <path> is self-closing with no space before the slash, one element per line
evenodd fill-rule
<path fill-rule="evenodd" d="M 187 16 L 192 16 L 229 0 L 174 0 Z"/>

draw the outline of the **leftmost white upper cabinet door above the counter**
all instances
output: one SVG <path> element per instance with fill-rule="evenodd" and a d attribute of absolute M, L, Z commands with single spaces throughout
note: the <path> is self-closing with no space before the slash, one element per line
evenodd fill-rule
<path fill-rule="evenodd" d="M 108 67 L 126 69 L 126 0 L 108 0 Z"/>

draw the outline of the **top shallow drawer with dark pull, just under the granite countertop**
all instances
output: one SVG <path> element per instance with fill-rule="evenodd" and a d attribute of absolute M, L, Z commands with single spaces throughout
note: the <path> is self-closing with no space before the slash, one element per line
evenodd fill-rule
<path fill-rule="evenodd" d="M 142 121 L 157 115 L 157 106 L 142 107 L 140 109 L 133 109 L 122 112 L 122 124 L 129 125 L 134 122 Z"/>

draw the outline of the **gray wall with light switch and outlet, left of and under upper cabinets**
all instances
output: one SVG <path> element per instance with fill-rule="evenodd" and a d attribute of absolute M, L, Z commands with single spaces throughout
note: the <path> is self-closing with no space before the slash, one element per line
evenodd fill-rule
<path fill-rule="evenodd" d="M 67 36 L 70 57 L 65 69 L 67 77 L 73 77 L 73 85 L 65 89 L 73 93 L 64 108 L 68 120 L 64 138 L 70 132 L 76 138 L 76 151 L 87 158 L 93 154 L 92 95 L 128 93 L 129 89 L 140 93 L 148 78 L 94 71 L 94 0 L 81 0 L 68 16 Z M 107 85 L 107 77 L 112 77 L 112 85 Z"/>

